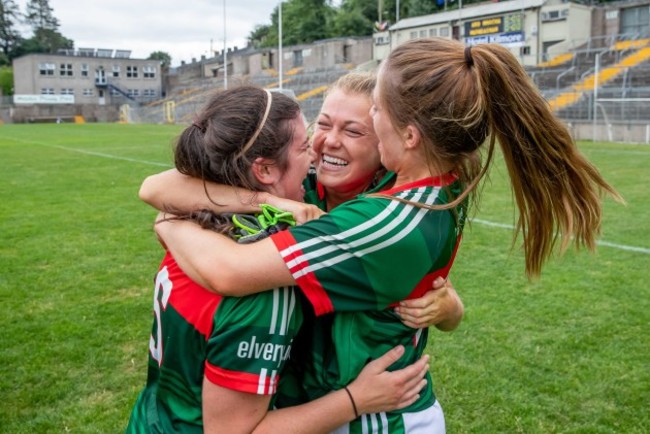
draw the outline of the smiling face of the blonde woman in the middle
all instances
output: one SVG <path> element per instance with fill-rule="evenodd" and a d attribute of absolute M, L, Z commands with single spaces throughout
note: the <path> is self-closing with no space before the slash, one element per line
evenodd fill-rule
<path fill-rule="evenodd" d="M 363 94 L 335 89 L 327 95 L 313 136 L 318 181 L 328 193 L 352 199 L 381 168 L 377 136 Z"/>

